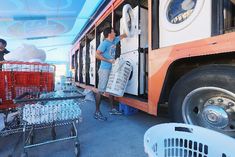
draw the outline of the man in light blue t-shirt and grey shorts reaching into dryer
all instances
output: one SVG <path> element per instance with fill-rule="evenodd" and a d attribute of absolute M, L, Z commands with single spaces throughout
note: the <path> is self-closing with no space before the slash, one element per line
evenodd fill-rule
<path fill-rule="evenodd" d="M 96 51 L 96 59 L 101 61 L 99 67 L 99 82 L 98 82 L 98 93 L 96 94 L 96 110 L 94 118 L 98 120 L 106 121 L 107 117 L 103 116 L 100 112 L 101 94 L 105 92 L 106 85 L 108 83 L 109 74 L 111 72 L 112 64 L 115 62 L 116 45 L 120 40 L 126 38 L 126 34 L 115 36 L 113 28 L 109 27 L 103 31 L 105 39 L 100 43 Z M 114 107 L 114 96 L 109 95 L 109 101 L 111 110 L 109 114 L 118 115 L 122 114 Z"/>

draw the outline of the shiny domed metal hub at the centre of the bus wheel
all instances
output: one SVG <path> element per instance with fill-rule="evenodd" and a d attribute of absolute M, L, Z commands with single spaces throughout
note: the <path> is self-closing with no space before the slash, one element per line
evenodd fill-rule
<path fill-rule="evenodd" d="M 224 128 L 229 124 L 229 116 L 220 106 L 208 105 L 204 107 L 202 118 L 213 128 Z"/>

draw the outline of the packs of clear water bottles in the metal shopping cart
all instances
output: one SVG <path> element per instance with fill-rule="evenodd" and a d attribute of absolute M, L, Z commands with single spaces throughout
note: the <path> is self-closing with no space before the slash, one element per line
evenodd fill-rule
<path fill-rule="evenodd" d="M 43 94 L 40 98 L 53 97 L 67 98 L 62 92 Z M 22 120 L 29 125 L 74 120 L 80 117 L 80 101 L 76 99 L 37 102 L 25 104 L 22 108 Z"/>

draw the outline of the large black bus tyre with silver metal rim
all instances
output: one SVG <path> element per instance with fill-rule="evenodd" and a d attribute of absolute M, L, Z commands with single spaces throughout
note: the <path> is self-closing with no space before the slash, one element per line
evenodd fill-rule
<path fill-rule="evenodd" d="M 177 81 L 169 98 L 176 122 L 198 125 L 235 137 L 235 67 L 210 65 Z"/>

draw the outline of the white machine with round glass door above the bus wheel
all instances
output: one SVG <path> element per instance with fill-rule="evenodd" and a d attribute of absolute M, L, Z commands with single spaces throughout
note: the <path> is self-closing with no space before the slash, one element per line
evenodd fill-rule
<path fill-rule="evenodd" d="M 212 0 L 159 1 L 160 47 L 211 36 Z"/>

